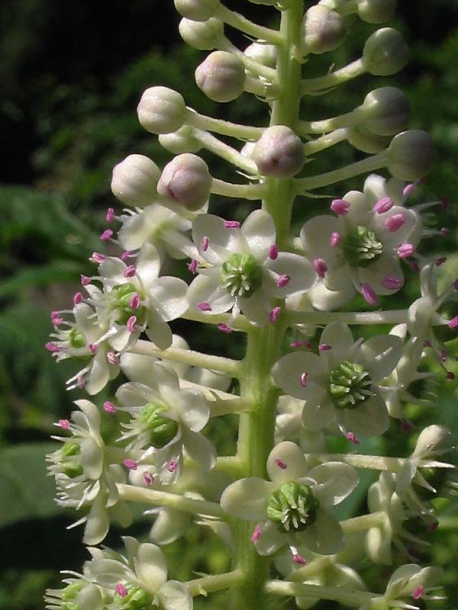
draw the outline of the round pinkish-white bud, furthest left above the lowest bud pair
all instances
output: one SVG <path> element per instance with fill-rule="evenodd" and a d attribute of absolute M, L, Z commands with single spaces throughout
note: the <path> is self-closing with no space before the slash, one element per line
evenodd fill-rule
<path fill-rule="evenodd" d="M 140 124 L 151 133 L 170 133 L 180 129 L 186 121 L 183 97 L 168 87 L 150 87 L 137 106 Z"/>

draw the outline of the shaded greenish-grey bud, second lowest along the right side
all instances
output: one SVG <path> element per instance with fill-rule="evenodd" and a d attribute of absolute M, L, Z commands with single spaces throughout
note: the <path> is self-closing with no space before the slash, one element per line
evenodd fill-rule
<path fill-rule="evenodd" d="M 366 95 L 364 126 L 379 136 L 392 136 L 406 128 L 409 103 L 397 87 L 380 87 Z"/>

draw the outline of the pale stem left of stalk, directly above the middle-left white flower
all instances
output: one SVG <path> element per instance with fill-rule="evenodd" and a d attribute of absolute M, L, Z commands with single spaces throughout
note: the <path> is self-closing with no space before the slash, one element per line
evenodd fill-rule
<path fill-rule="evenodd" d="M 152 356 L 153 358 L 161 358 L 162 360 L 170 360 L 171 362 L 180 362 L 182 364 L 189 364 L 190 366 L 210 369 L 211 371 L 227 373 L 231 377 L 239 377 L 241 373 L 241 365 L 236 360 L 223 358 L 222 356 L 211 356 L 194 350 L 181 349 L 178 347 L 169 347 L 166 350 L 160 350 L 148 341 L 140 340 L 137 341 L 130 351 L 133 354 Z"/>

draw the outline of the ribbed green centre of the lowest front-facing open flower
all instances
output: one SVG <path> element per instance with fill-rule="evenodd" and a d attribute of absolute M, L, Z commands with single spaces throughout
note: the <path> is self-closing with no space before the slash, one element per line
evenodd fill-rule
<path fill-rule="evenodd" d="M 267 516 L 280 532 L 302 532 L 315 522 L 319 507 L 309 485 L 289 481 L 270 496 Z"/>

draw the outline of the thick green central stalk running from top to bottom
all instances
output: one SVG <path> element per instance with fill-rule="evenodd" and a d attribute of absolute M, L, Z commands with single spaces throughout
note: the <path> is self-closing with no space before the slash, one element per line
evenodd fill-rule
<path fill-rule="evenodd" d="M 293 59 L 299 45 L 302 0 L 294 0 L 282 12 L 278 45 L 277 75 L 280 95 L 272 105 L 271 125 L 287 125 L 294 129 L 300 104 L 301 66 Z M 286 243 L 295 198 L 293 180 L 266 180 L 263 209 L 273 217 L 277 243 Z M 247 332 L 247 352 L 240 380 L 241 397 L 254 405 L 249 413 L 241 414 L 237 457 L 245 476 L 266 477 L 266 460 L 274 444 L 275 415 L 278 391 L 272 386 L 270 372 L 280 356 L 285 326 L 281 317 L 276 323 Z M 268 558 L 257 554 L 251 541 L 253 523 L 234 525 L 234 569 L 240 569 L 244 582 L 233 592 L 234 610 L 267 607 L 265 583 L 269 577 Z"/>

